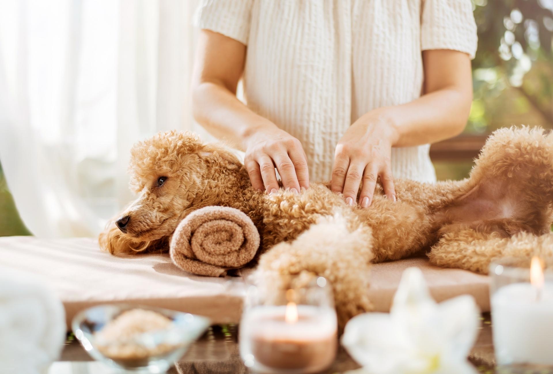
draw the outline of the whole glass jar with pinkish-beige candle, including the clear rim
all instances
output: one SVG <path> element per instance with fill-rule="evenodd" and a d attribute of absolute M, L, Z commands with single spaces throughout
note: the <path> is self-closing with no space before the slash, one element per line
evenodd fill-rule
<path fill-rule="evenodd" d="M 261 374 L 325 370 L 337 350 L 337 318 L 327 281 L 263 294 L 249 286 L 239 325 L 244 365 Z"/>

